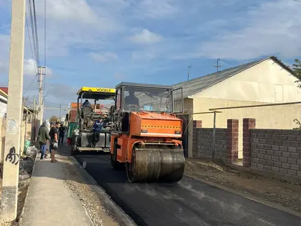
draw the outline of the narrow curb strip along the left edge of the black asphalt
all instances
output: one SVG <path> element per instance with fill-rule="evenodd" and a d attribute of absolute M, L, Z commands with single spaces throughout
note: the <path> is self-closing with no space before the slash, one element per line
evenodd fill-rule
<path fill-rule="evenodd" d="M 73 162 L 73 164 L 79 166 L 79 168 L 82 167 L 75 157 L 68 156 L 68 158 L 71 162 Z M 105 192 L 105 190 L 101 188 L 99 184 L 97 184 L 95 179 L 85 169 L 82 170 L 82 173 L 88 178 L 88 181 L 91 183 L 91 186 L 93 186 L 94 190 L 96 190 L 96 192 L 98 192 L 99 195 L 103 198 L 103 203 L 112 208 L 112 210 L 114 211 L 112 212 L 112 214 L 114 214 L 114 216 L 119 216 L 120 219 L 122 219 L 123 223 L 125 223 L 125 225 L 136 225 L 134 221 L 118 205 L 116 205 L 114 201 L 112 201 L 107 192 Z"/>

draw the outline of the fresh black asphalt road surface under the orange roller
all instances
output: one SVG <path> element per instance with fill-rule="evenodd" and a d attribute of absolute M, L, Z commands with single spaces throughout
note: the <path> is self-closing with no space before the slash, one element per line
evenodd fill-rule
<path fill-rule="evenodd" d="M 137 225 L 301 225 L 301 218 L 190 177 L 178 184 L 130 184 L 109 155 L 77 155 Z"/>

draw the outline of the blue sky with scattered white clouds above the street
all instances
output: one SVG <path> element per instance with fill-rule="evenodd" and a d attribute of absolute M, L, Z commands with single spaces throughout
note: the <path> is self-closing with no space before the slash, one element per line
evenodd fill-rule
<path fill-rule="evenodd" d="M 46 8 L 48 108 L 68 108 L 81 86 L 176 84 L 188 65 L 190 78 L 215 72 L 218 58 L 222 70 L 270 55 L 292 64 L 301 55 L 301 2 L 293 0 L 46 0 Z M 36 12 L 45 66 L 44 0 Z M 0 0 L 1 86 L 8 86 L 10 14 L 11 1 Z M 25 26 L 23 92 L 31 101 L 35 65 Z"/>

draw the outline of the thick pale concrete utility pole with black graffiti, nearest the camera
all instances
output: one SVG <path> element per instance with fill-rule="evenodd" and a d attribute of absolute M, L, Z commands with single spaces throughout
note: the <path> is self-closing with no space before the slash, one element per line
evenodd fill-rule
<path fill-rule="evenodd" d="M 0 221 L 16 219 L 21 147 L 25 0 L 12 1 L 10 67 Z"/>

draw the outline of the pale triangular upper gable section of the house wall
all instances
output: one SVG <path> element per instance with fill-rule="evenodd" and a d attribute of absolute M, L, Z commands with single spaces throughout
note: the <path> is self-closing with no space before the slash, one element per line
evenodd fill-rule
<path fill-rule="evenodd" d="M 268 103 L 301 101 L 301 90 L 295 81 L 296 77 L 269 59 L 193 97 Z"/>

